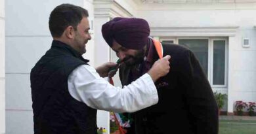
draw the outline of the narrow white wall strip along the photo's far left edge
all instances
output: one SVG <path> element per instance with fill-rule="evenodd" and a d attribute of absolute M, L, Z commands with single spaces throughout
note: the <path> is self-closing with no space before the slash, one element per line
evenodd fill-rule
<path fill-rule="evenodd" d="M 0 133 L 5 133 L 5 0 L 0 0 Z"/>

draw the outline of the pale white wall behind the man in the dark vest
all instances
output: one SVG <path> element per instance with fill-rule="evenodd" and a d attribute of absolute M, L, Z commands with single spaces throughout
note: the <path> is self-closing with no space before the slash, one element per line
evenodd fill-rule
<path fill-rule="evenodd" d="M 1 0 L 0 6 L 2 6 Z M 90 2 L 90 1 L 89 1 Z M 0 32 L 0 99 L 4 97 L 6 75 L 6 133 L 33 133 L 32 97 L 30 89 L 30 71 L 36 61 L 51 47 L 52 37 L 49 32 L 49 14 L 54 7 L 62 3 L 72 3 L 83 7 L 85 0 L 8 0 L 5 1 L 5 41 L 6 72 L 3 72 L 4 38 Z M 91 5 L 90 5 L 91 6 Z M 89 6 L 89 7 L 90 7 Z M 2 9 L 2 8 L 0 8 Z M 91 8 L 90 8 L 91 10 Z M 90 12 L 89 10 L 89 12 Z M 0 10 L 0 26 L 4 18 Z M 92 13 L 90 13 L 92 14 Z M 90 16 L 93 18 L 93 16 Z M 92 44 L 89 42 L 89 44 Z M 91 45 L 89 45 L 89 49 Z M 91 51 L 87 48 L 87 51 Z M 89 54 L 85 57 L 92 58 Z M 93 60 L 93 59 L 92 59 Z M 3 97 L 2 97 L 3 96 Z M 3 101 L 0 101 L 0 106 Z M 2 107 L 0 107 L 0 110 Z M 0 121 L 2 122 L 2 114 Z M 4 129 L 0 127 L 0 133 Z"/>

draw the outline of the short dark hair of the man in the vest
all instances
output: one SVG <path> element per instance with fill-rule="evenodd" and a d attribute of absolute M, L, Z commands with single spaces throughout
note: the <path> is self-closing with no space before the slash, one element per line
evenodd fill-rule
<path fill-rule="evenodd" d="M 61 37 L 66 27 L 70 25 L 76 30 L 82 18 L 88 16 L 88 11 L 85 8 L 72 4 L 58 5 L 53 9 L 49 18 L 49 29 L 52 37 Z"/>

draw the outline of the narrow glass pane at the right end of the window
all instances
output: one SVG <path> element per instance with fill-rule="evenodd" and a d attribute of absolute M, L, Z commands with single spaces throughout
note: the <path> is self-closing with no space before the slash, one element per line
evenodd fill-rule
<path fill-rule="evenodd" d="M 225 41 L 213 41 L 213 84 L 224 85 Z"/>

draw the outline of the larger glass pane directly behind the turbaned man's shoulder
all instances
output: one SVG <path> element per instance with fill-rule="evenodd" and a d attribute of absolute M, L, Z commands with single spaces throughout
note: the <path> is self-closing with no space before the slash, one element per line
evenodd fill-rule
<path fill-rule="evenodd" d="M 179 39 L 179 44 L 187 46 L 194 52 L 205 75 L 208 76 L 208 39 Z"/>

